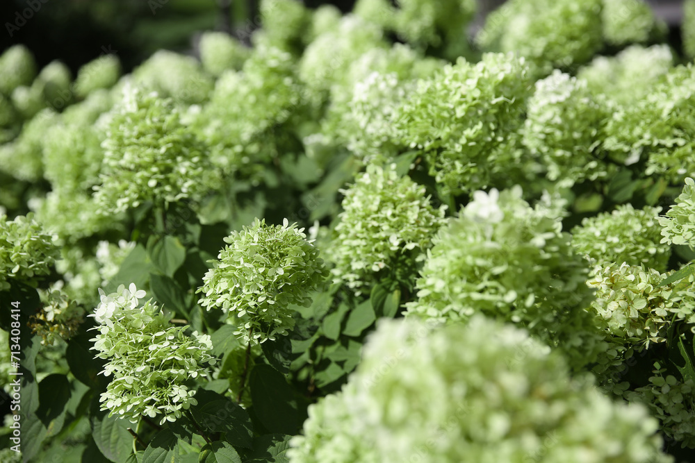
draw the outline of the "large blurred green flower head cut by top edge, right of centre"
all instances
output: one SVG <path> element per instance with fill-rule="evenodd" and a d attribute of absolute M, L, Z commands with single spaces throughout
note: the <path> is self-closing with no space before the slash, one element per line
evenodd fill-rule
<path fill-rule="evenodd" d="M 591 59 L 603 46 L 602 0 L 511 0 L 485 20 L 476 41 L 484 51 L 515 52 L 543 76 Z"/>

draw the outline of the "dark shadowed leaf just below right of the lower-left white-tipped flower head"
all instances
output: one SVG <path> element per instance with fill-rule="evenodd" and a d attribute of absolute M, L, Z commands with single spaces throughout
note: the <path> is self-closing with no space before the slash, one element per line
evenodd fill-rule
<path fill-rule="evenodd" d="M 198 405 L 191 407 L 195 421 L 210 432 L 224 432 L 230 444 L 251 447 L 253 427 L 246 410 L 224 396 L 201 389 L 195 395 Z"/>

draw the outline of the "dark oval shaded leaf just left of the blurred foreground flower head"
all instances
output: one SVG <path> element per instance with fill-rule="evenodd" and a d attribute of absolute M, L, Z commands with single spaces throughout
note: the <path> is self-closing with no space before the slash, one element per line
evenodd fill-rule
<path fill-rule="evenodd" d="M 304 422 L 293 390 L 282 373 L 270 365 L 256 365 L 249 381 L 253 410 L 269 432 L 295 435 Z"/>

